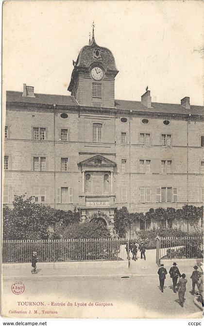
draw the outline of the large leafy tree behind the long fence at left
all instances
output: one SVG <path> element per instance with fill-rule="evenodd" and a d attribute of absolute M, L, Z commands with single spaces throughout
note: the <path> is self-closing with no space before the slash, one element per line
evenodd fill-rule
<path fill-rule="evenodd" d="M 15 196 L 13 209 L 3 208 L 3 239 L 48 239 L 48 227 L 56 223 L 65 225 L 79 222 L 76 211 L 63 211 L 33 203 L 33 197 Z"/>

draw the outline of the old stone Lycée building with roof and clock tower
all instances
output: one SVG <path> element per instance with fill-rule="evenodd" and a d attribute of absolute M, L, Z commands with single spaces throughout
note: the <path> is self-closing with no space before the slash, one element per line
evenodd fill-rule
<path fill-rule="evenodd" d="M 14 195 L 102 218 L 114 211 L 201 206 L 204 201 L 204 107 L 115 100 L 113 54 L 89 45 L 73 61 L 70 96 L 7 91 L 3 203 Z M 176 100 L 177 102 L 177 100 Z M 149 229 L 153 221 L 136 228 Z"/>

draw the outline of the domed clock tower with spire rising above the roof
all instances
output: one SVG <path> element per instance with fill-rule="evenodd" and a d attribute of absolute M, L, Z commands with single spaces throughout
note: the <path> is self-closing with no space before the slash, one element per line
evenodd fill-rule
<path fill-rule="evenodd" d="M 115 77 L 118 74 L 111 51 L 97 45 L 94 38 L 84 46 L 73 61 L 74 69 L 68 91 L 79 105 L 115 107 Z"/>

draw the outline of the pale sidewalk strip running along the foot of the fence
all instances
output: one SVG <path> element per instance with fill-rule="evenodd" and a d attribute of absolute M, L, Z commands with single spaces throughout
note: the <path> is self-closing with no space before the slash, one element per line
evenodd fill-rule
<path fill-rule="evenodd" d="M 130 255 L 130 257 L 132 257 Z M 165 262 L 169 272 L 173 261 Z M 191 274 L 194 261 L 180 260 L 177 262 L 181 273 Z M 98 261 L 98 262 L 62 262 L 62 263 L 37 263 L 37 273 L 31 273 L 31 263 L 2 264 L 2 276 L 4 279 L 17 277 L 122 277 L 122 276 L 157 276 L 158 266 L 155 263 L 155 250 L 146 251 L 146 261 L 138 259 L 125 261 Z"/>

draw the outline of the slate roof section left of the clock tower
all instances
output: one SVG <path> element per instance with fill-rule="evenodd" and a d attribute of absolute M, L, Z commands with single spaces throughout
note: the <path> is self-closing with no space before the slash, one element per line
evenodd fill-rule
<path fill-rule="evenodd" d="M 75 101 L 73 96 L 36 94 L 36 93 L 34 94 L 35 97 L 23 97 L 22 92 L 7 91 L 6 101 L 78 106 L 78 103 Z"/>

